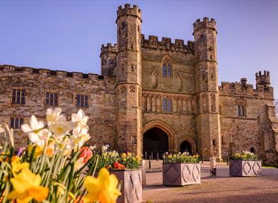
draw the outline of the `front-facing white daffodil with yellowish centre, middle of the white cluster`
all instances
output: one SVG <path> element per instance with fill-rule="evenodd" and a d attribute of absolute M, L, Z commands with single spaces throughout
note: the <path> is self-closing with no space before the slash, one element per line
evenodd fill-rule
<path fill-rule="evenodd" d="M 51 125 L 48 126 L 49 130 L 53 133 L 53 136 L 56 137 L 56 139 L 61 140 L 66 133 L 71 130 L 68 126 L 68 123 L 66 122 L 66 117 L 63 115 L 60 115 L 56 122 L 51 123 Z"/>

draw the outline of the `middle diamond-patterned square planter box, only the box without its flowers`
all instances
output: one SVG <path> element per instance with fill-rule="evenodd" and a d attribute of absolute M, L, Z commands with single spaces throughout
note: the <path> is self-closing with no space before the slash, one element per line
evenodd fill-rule
<path fill-rule="evenodd" d="M 163 163 L 163 184 L 183 186 L 201 183 L 201 166 L 199 163 Z"/>

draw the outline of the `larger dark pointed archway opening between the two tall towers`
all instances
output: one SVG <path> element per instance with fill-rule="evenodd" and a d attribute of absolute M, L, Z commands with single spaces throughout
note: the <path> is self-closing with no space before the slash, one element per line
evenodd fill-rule
<path fill-rule="evenodd" d="M 148 159 L 152 155 L 155 159 L 157 154 L 162 158 L 163 153 L 168 152 L 168 135 L 158 127 L 150 128 L 143 134 L 143 155 Z"/>

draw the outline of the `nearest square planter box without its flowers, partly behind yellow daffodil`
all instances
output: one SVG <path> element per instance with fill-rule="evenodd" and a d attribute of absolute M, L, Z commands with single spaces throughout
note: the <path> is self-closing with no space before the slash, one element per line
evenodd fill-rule
<path fill-rule="evenodd" d="M 142 198 L 142 170 L 109 170 L 119 182 L 122 182 L 117 203 L 139 203 Z M 96 172 L 96 176 L 98 172 Z"/>

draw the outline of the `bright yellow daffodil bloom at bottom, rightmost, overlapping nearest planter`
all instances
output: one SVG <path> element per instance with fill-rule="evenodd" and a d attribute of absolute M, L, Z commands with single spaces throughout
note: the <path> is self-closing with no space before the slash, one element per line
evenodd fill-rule
<path fill-rule="evenodd" d="M 84 197 L 85 202 L 114 203 L 118 196 L 121 195 L 117 189 L 117 177 L 109 175 L 108 170 L 105 168 L 99 171 L 97 178 L 92 176 L 86 177 L 84 185 L 88 190 L 88 194 Z"/>

